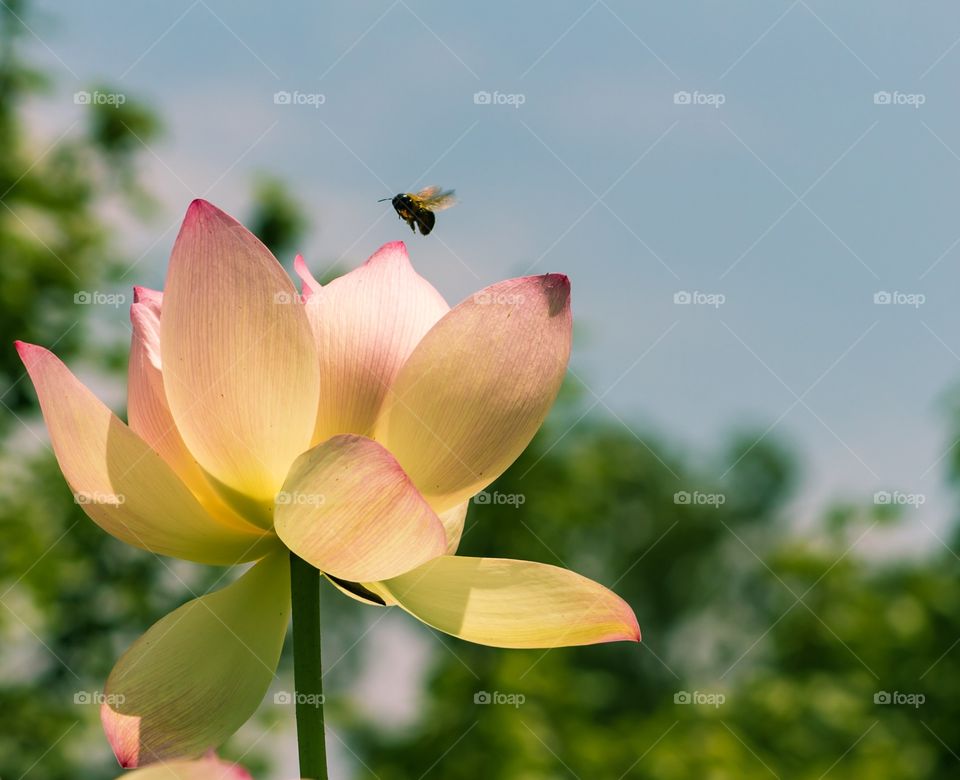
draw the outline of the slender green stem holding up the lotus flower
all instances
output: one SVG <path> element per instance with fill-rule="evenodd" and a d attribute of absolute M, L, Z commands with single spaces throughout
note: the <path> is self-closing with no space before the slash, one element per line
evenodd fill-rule
<path fill-rule="evenodd" d="M 320 662 L 320 572 L 290 553 L 293 601 L 293 689 L 300 776 L 327 780 L 323 733 L 323 669 Z"/>

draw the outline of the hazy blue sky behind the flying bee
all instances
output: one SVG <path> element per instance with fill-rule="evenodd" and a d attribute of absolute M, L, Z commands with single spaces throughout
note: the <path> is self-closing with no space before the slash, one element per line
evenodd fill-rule
<path fill-rule="evenodd" d="M 567 273 L 590 415 L 705 454 L 769 428 L 805 459 L 798 515 L 923 493 L 909 533 L 936 543 L 960 375 L 955 4 L 40 7 L 50 140 L 98 82 L 163 114 L 144 167 L 164 214 L 127 230 L 132 281 L 159 284 L 192 197 L 242 215 L 270 171 L 312 214 L 315 270 L 403 238 L 451 301 Z M 431 183 L 462 202 L 427 238 L 376 202 Z"/>

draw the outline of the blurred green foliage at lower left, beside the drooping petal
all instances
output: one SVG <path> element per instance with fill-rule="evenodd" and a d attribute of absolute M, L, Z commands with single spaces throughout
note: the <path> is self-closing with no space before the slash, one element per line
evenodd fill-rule
<path fill-rule="evenodd" d="M 118 655 L 188 587 L 203 588 L 197 573 L 205 572 L 161 562 L 97 528 L 47 453 L 22 466 L 0 494 L 0 570 L 18 575 L 2 586 L 0 769 L 19 777 L 44 756 L 46 778 L 114 777 L 103 739 L 89 740 L 99 729 L 91 702 Z M 82 744 L 92 756 L 69 749 Z"/>

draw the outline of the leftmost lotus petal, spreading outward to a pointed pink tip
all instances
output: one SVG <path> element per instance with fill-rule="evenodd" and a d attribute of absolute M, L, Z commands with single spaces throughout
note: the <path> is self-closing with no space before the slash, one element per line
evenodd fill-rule
<path fill-rule="evenodd" d="M 160 555 L 233 564 L 264 554 L 272 534 L 218 523 L 146 442 L 51 352 L 17 342 L 53 451 L 77 503 L 107 533 Z M 252 529 L 252 527 L 251 527 Z"/>

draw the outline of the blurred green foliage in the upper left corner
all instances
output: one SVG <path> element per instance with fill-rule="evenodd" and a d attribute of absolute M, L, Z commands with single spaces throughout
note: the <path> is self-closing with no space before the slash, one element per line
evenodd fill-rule
<path fill-rule="evenodd" d="M 61 356 L 84 343 L 89 307 L 74 296 L 97 289 L 116 265 L 99 209 L 114 182 L 133 187 L 132 157 L 119 153 L 135 143 L 130 128 L 150 135 L 156 127 L 152 113 L 130 101 L 88 106 L 86 135 L 66 127 L 37 138 L 22 111 L 46 81 L 19 55 L 27 17 L 25 2 L 0 5 L 0 400 L 14 414 L 32 400 L 10 342 L 56 344 Z M 11 419 L 0 417 L 0 433 Z"/>

